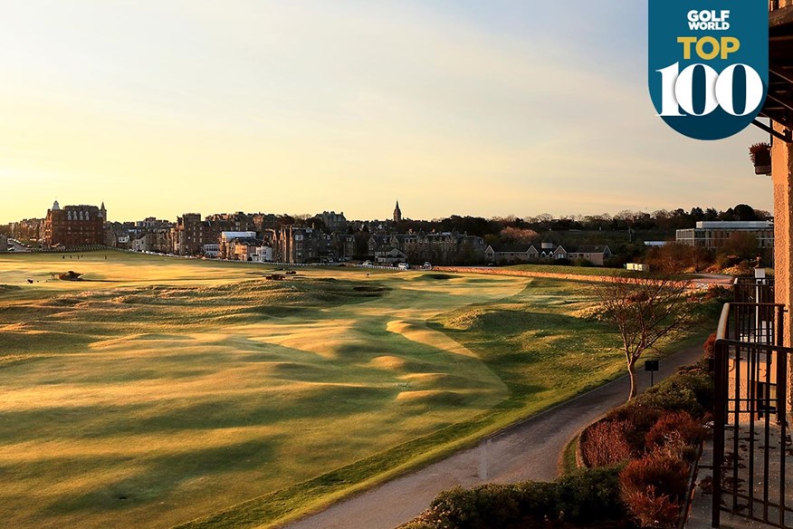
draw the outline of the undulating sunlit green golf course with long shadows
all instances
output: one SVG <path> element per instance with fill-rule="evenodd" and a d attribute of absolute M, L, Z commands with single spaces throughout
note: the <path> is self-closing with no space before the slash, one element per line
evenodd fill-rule
<path fill-rule="evenodd" d="M 281 524 L 624 370 L 587 283 L 273 270 L 0 255 L 3 523 Z"/>

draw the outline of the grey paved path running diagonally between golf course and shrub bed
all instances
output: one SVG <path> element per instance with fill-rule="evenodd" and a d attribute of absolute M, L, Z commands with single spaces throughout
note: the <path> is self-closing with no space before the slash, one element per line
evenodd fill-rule
<path fill-rule="evenodd" d="M 701 356 L 702 345 L 696 345 L 667 357 L 661 361 L 655 381 Z M 639 372 L 638 380 L 639 390 L 644 390 L 650 381 L 648 373 Z M 355 495 L 287 527 L 394 529 L 424 511 L 439 492 L 454 486 L 553 480 L 558 474 L 559 454 L 568 441 L 609 409 L 622 404 L 629 388 L 627 376 L 614 380 L 502 430 L 478 447 Z M 487 476 L 483 478 L 485 471 Z"/>

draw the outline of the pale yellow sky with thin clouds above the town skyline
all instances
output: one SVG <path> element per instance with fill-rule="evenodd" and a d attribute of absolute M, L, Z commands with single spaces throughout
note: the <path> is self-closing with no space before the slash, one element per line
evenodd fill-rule
<path fill-rule="evenodd" d="M 0 0 L 0 223 L 771 209 L 647 91 L 646 2 Z"/>

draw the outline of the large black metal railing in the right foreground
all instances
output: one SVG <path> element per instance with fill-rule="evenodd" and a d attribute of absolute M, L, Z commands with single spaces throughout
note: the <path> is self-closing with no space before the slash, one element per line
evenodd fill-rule
<path fill-rule="evenodd" d="M 750 284 L 745 294 L 765 299 L 757 286 Z M 727 303 L 721 312 L 714 361 L 713 527 L 727 511 L 793 528 L 793 500 L 786 495 L 793 349 L 781 345 L 785 313 L 779 303 Z"/>

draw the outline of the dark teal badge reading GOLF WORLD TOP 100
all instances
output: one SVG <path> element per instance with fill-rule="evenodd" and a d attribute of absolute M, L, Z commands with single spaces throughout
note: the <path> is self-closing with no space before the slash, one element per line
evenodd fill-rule
<path fill-rule="evenodd" d="M 650 0 L 650 97 L 666 124 L 693 139 L 744 130 L 769 88 L 768 3 Z"/>

